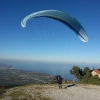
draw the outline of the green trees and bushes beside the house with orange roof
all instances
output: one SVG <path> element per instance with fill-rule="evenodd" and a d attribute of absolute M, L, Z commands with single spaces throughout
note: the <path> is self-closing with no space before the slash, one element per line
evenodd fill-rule
<path fill-rule="evenodd" d="M 92 76 L 88 67 L 80 69 L 78 66 L 73 66 L 70 74 L 74 75 L 74 79 L 77 77 L 81 83 L 100 84 L 100 78 L 97 75 Z"/>

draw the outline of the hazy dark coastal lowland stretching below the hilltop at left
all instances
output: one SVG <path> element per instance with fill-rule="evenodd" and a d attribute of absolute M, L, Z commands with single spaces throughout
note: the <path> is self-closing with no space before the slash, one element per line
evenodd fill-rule
<path fill-rule="evenodd" d="M 14 69 L 12 65 L 0 63 L 0 86 L 41 84 L 53 80 L 47 73 Z"/>

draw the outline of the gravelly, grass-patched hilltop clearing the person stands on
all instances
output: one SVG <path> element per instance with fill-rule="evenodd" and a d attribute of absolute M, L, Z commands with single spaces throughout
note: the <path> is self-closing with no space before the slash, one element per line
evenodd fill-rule
<path fill-rule="evenodd" d="M 0 100 L 100 100 L 100 86 L 85 84 L 24 85 L 8 89 Z"/>

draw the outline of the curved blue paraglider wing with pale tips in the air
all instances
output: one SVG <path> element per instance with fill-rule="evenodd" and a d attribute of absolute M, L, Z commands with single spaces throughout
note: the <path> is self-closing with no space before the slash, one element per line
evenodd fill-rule
<path fill-rule="evenodd" d="M 29 19 L 36 18 L 36 17 L 48 17 L 48 18 L 58 20 L 64 23 L 65 25 L 67 25 L 71 30 L 73 30 L 83 42 L 88 41 L 87 34 L 84 28 L 82 27 L 82 25 L 74 17 L 70 16 L 65 12 L 58 11 L 58 10 L 43 10 L 43 11 L 32 13 L 26 16 L 21 21 L 22 27 L 23 28 L 26 27 L 26 22 Z"/>

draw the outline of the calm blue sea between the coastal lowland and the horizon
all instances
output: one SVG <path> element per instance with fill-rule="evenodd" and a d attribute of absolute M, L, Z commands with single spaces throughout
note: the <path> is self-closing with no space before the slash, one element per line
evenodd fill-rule
<path fill-rule="evenodd" d="M 89 67 L 91 70 L 93 68 L 100 69 L 99 64 L 86 64 L 86 63 L 61 63 L 61 62 L 37 62 L 37 61 L 6 61 L 3 62 L 8 65 L 12 65 L 14 69 L 25 70 L 25 71 L 35 71 L 41 73 L 47 73 L 52 76 L 61 75 L 62 78 L 67 80 L 73 80 L 74 76 L 70 74 L 70 70 L 74 65 L 81 69 Z M 79 82 L 78 79 L 76 79 Z"/>

